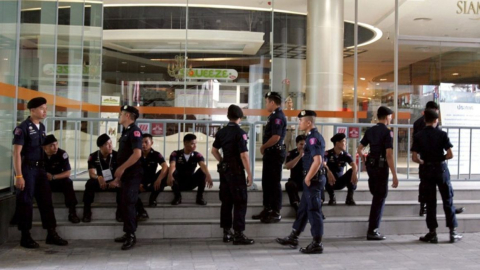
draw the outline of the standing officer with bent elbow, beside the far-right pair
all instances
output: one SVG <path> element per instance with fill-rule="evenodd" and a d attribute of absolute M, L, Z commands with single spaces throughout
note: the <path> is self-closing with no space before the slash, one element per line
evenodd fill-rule
<path fill-rule="evenodd" d="M 392 121 L 392 110 L 380 106 L 377 110 L 378 123 L 369 128 L 357 148 L 357 153 L 367 166 L 368 188 L 373 195 L 370 217 L 368 218 L 367 240 L 385 240 L 378 231 L 382 219 L 385 199 L 388 193 L 388 169 L 392 172 L 392 187 L 398 186 L 397 172 L 393 159 L 393 131 L 387 128 Z M 370 145 L 367 159 L 363 149 Z"/>

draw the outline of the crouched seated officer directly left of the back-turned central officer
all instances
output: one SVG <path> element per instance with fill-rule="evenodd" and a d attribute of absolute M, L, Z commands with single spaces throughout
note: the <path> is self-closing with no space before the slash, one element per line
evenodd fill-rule
<path fill-rule="evenodd" d="M 197 136 L 186 134 L 183 137 L 183 146 L 181 150 L 173 151 L 170 154 L 170 169 L 168 170 L 167 185 L 172 187 L 175 198 L 172 205 L 182 203 L 181 191 L 189 191 L 198 187 L 197 200 L 198 205 L 206 205 L 203 199 L 205 186 L 213 187 L 212 177 L 208 172 L 205 158 L 202 154 L 195 151 L 197 148 Z M 200 169 L 196 170 L 197 165 Z"/>

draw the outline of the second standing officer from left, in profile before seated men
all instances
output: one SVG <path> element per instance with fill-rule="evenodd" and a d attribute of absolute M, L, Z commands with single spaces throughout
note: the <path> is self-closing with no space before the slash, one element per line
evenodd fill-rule
<path fill-rule="evenodd" d="M 122 136 L 118 148 L 118 168 L 115 171 L 115 179 L 110 183 L 112 186 L 122 187 L 121 210 L 123 217 L 123 231 L 125 234 L 115 238 L 115 242 L 123 243 L 122 250 L 131 249 L 135 246 L 137 238 L 137 209 L 138 191 L 142 181 L 143 168 L 140 162 L 142 156 L 142 131 L 135 125 L 139 117 L 135 107 L 122 106 L 118 123 L 123 126 Z"/>

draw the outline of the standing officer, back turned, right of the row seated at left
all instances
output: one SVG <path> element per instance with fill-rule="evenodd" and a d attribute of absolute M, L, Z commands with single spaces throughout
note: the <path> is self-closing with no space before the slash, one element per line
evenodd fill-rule
<path fill-rule="evenodd" d="M 240 107 L 230 105 L 227 117 L 230 122 L 217 132 L 212 147 L 212 154 L 219 162 L 220 201 L 222 202 L 220 227 L 223 228 L 223 242 L 233 240 L 234 245 L 250 245 L 255 241 L 243 234 L 247 214 L 247 186 L 253 183 L 248 159 L 248 136 L 239 126 L 243 117 Z M 223 150 L 223 157 L 219 149 Z M 246 179 L 244 170 L 247 171 Z M 235 234 L 230 230 L 232 224 Z"/>

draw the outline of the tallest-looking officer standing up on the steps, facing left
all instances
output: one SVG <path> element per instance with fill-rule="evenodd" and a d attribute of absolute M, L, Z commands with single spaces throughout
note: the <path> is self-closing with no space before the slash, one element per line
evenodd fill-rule
<path fill-rule="evenodd" d="M 287 132 L 287 118 L 283 114 L 282 97 L 277 92 L 268 92 L 265 95 L 265 107 L 268 116 L 267 125 L 263 133 L 263 145 L 260 152 L 263 155 L 262 192 L 263 210 L 253 219 L 260 219 L 263 223 L 279 222 L 282 219 L 282 167 L 285 161 L 286 150 L 283 143 Z"/>

